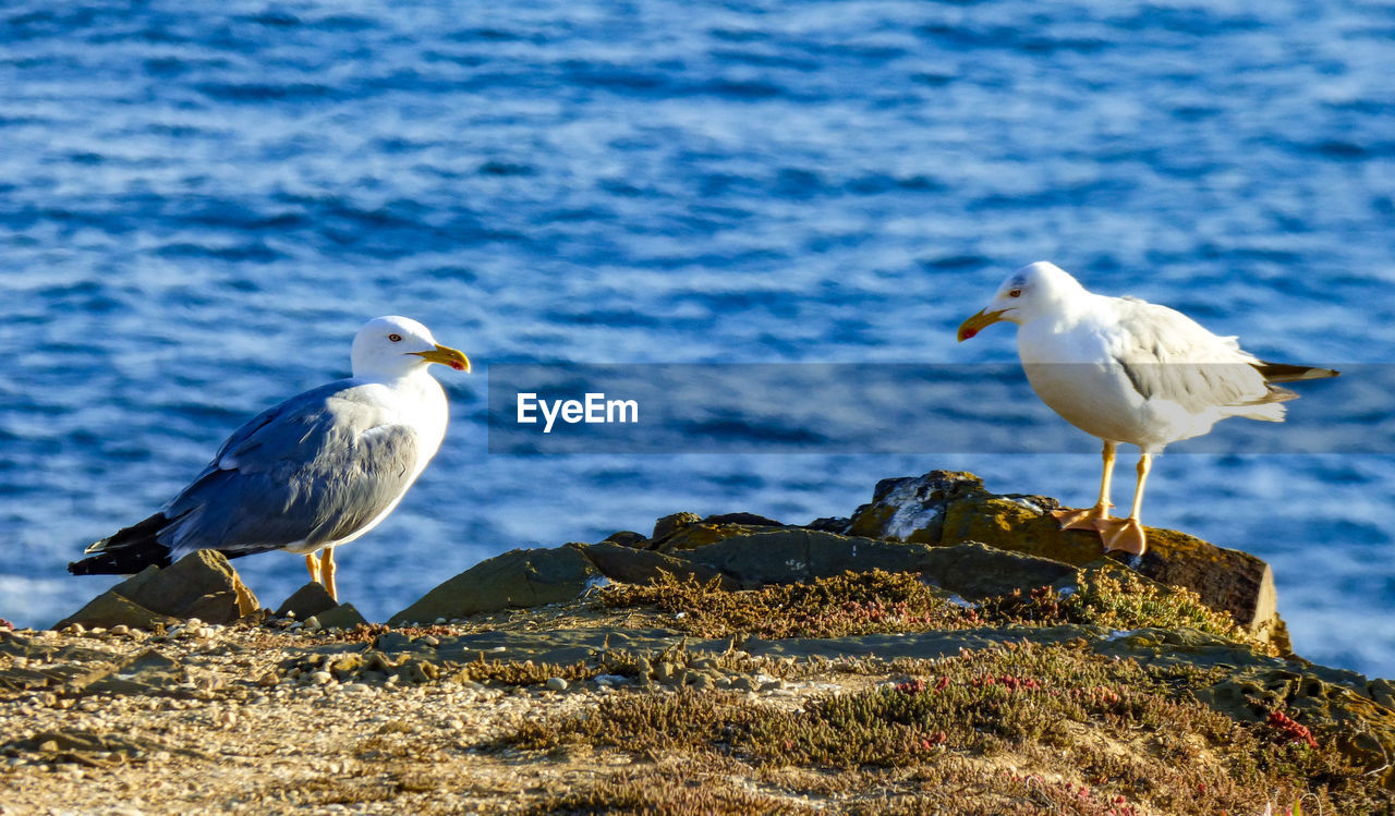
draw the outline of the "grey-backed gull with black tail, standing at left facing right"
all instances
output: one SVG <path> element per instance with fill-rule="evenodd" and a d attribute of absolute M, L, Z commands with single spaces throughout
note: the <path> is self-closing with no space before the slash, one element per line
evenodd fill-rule
<path fill-rule="evenodd" d="M 130 575 L 195 550 L 286 550 L 304 554 L 310 579 L 338 601 L 333 548 L 388 517 L 445 437 L 445 392 L 428 367 L 470 370 L 462 352 L 396 315 L 364 324 L 350 358 L 353 377 L 252 417 L 158 513 L 89 545 L 68 572 Z"/>

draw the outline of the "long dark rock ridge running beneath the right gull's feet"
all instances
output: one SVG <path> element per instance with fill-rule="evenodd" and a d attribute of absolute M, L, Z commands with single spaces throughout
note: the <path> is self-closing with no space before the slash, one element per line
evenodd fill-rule
<path fill-rule="evenodd" d="M 844 572 L 919 572 L 965 598 L 1057 583 L 1076 568 L 1115 564 L 1099 537 L 1060 530 L 1052 498 L 983 488 L 970 473 L 935 470 L 877 483 L 851 517 L 797 527 L 753 513 L 658 519 L 644 540 L 622 531 L 598 544 L 513 551 L 442 583 L 391 624 L 452 619 L 483 611 L 572 600 L 597 580 L 643 583 L 661 573 L 755 589 Z M 1162 584 L 1196 591 L 1249 632 L 1286 647 L 1269 566 L 1236 550 L 1173 530 L 1148 531 L 1131 566 Z M 540 601 L 540 598 L 548 598 Z"/>

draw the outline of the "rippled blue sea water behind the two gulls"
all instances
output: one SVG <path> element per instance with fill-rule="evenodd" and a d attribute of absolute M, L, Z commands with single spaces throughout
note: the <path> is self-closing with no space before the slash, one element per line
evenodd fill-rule
<path fill-rule="evenodd" d="M 1085 504 L 1095 453 L 491 453 L 487 367 L 1010 363 L 1010 326 L 954 326 L 1041 258 L 1384 365 L 1391 66 L 1395 6 L 1357 0 L 7 3 L 0 617 L 112 583 L 64 565 L 378 314 L 481 365 L 439 372 L 441 453 L 340 551 L 370 618 L 513 547 L 847 515 L 935 467 Z M 1395 675 L 1395 453 L 1186 446 L 1145 520 L 1268 559 L 1299 653 Z M 304 580 L 237 566 L 272 604 Z"/>

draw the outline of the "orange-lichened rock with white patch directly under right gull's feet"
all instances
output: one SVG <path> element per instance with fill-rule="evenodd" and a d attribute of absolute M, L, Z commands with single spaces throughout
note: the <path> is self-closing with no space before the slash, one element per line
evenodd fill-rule
<path fill-rule="evenodd" d="M 981 541 L 1077 566 L 1099 559 L 1099 536 L 1059 530 L 1048 515 L 1057 506 L 1046 497 L 988 492 L 971 473 L 932 470 L 879 481 L 872 502 L 852 515 L 848 533 L 940 545 Z M 1230 612 L 1251 632 L 1276 626 L 1274 575 L 1268 564 L 1247 552 L 1149 527 L 1138 573 L 1196 591 L 1202 603 Z"/>

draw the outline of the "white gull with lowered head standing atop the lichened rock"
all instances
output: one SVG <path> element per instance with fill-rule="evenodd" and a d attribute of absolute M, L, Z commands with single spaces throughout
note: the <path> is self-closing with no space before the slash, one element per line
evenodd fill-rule
<path fill-rule="evenodd" d="M 1017 356 L 1032 391 L 1081 431 L 1099 437 L 1099 501 L 1052 515 L 1063 530 L 1096 530 L 1105 551 L 1143 555 L 1140 511 L 1152 458 L 1228 417 L 1282 423 L 1297 393 L 1278 382 L 1336 377 L 1331 368 L 1265 363 L 1236 338 L 1212 335 L 1187 315 L 1138 300 L 1094 294 L 1048 261 L 1023 266 L 958 328 L 964 342 L 985 326 L 1017 324 Z M 1109 515 L 1115 448 L 1137 445 L 1138 481 L 1127 519 Z"/>

